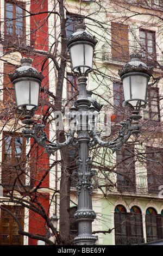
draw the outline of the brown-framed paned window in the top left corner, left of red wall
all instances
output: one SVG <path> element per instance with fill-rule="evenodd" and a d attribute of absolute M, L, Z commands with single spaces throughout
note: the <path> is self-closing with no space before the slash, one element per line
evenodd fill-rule
<path fill-rule="evenodd" d="M 22 3 L 5 1 L 5 39 L 14 41 L 24 38 L 26 25 L 23 8 L 24 5 Z"/>

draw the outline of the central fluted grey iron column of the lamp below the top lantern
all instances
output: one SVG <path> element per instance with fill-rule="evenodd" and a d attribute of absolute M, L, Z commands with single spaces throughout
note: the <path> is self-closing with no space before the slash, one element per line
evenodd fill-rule
<path fill-rule="evenodd" d="M 77 100 L 77 141 L 79 144 L 79 156 L 77 158 L 77 194 L 78 209 L 74 214 L 78 222 L 78 236 L 74 239 L 76 245 L 95 245 L 96 237 L 92 235 L 92 221 L 96 218 L 92 210 L 92 182 L 95 174 L 91 170 L 91 157 L 89 156 L 89 99 L 86 93 L 87 78 L 82 76 L 79 81 L 79 98 Z"/>

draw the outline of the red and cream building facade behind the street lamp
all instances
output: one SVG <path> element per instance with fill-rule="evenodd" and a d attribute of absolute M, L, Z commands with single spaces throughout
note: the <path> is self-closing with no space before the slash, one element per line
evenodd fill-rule
<path fill-rule="evenodd" d="M 98 39 L 87 89 L 93 99 L 103 104 L 99 130 L 104 139 L 114 139 L 120 121 L 131 115 L 124 106 L 118 69 L 129 62 L 133 52 L 140 53 L 148 66 L 154 66 L 147 107 L 141 110 L 141 135 L 132 136 L 117 154 L 102 148 L 91 151 L 92 167 L 97 170 L 92 194 L 97 215 L 92 231 L 98 238 L 97 245 L 131 245 L 163 239 L 162 11 L 159 0 L 1 1 L 1 245 L 37 245 L 37 234 L 45 237 L 45 243 L 50 239 L 59 244 L 65 216 L 69 216 L 65 236 L 69 230 L 71 244 L 78 232 L 73 217 L 77 209 L 77 181 L 72 176 L 78 151 L 68 149 L 68 172 L 63 172 L 63 153 L 48 156 L 32 139 L 27 143 L 8 73 L 20 66 L 21 58 L 33 59 L 32 65 L 42 71 L 45 78 L 34 119 L 46 125 L 49 140 L 55 141 L 57 111 L 67 113 L 78 97 L 78 80 L 71 72 L 68 56 L 62 74 L 62 36 L 70 36 L 75 25 L 83 22 Z M 66 34 L 61 26 L 62 15 Z M 58 92 L 62 94 L 61 105 Z M 65 118 L 65 131 L 66 121 Z M 61 181 L 63 173 L 69 175 L 64 180 L 66 188 Z M 60 207 L 60 191 L 64 188 L 63 200 L 69 200 L 66 212 Z M 54 213 L 59 217 L 57 239 L 49 235 L 46 218 Z M 35 235 L 34 239 L 32 235 L 18 234 L 18 224 L 24 232 Z"/>

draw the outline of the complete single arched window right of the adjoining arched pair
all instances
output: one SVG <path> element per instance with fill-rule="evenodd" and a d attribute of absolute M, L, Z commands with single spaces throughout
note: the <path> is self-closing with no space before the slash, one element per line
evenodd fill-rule
<path fill-rule="evenodd" d="M 159 239 L 157 212 L 152 207 L 146 210 L 146 234 L 147 242 Z"/>

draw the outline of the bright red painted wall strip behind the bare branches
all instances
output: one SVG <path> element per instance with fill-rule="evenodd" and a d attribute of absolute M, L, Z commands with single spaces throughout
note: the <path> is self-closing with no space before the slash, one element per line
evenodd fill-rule
<path fill-rule="evenodd" d="M 31 0 L 30 12 L 34 15 L 30 16 L 30 42 L 34 50 L 37 51 L 48 51 L 48 1 L 35 1 Z M 35 15 L 36 14 L 36 15 Z M 37 56 L 30 56 L 33 58 L 32 66 L 37 69 L 37 71 L 42 71 L 45 78 L 42 81 L 41 87 L 48 89 L 48 59 L 43 54 L 38 54 Z M 48 97 L 45 99 L 45 95 L 40 93 L 40 106 L 37 114 L 46 115 L 47 106 L 45 101 L 48 101 Z M 48 127 L 46 127 L 47 135 Z M 32 145 L 33 141 L 31 142 Z M 41 184 L 41 187 L 49 187 L 49 159 L 47 154 L 44 153 L 44 149 L 35 145 L 30 154 L 32 159 L 31 170 L 33 171 L 33 186 L 36 187 L 39 181 L 42 179 L 43 175 L 47 175 Z M 35 181 L 34 181 L 35 180 Z M 37 195 L 38 196 L 38 195 Z M 38 202 L 43 205 L 43 208 L 48 212 L 49 210 L 49 195 L 41 194 L 38 197 Z M 29 233 L 40 234 L 46 236 L 45 220 L 34 213 L 34 211 L 29 211 Z M 29 238 L 29 245 L 37 245 L 37 240 Z"/>

